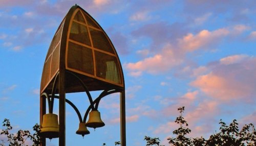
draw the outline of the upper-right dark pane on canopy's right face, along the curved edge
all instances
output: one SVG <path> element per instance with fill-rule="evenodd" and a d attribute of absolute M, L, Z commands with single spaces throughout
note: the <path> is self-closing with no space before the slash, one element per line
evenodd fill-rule
<path fill-rule="evenodd" d="M 90 29 L 90 33 L 95 48 L 114 54 L 113 48 L 103 32 Z"/>

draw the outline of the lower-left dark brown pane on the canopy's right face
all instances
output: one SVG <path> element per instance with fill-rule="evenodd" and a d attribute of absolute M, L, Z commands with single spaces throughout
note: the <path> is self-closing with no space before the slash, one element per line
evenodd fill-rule
<path fill-rule="evenodd" d="M 69 42 L 68 67 L 94 75 L 92 50 Z"/>

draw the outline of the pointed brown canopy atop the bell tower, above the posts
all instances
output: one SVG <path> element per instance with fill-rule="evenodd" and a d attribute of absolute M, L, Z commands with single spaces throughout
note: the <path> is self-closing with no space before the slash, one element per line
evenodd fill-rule
<path fill-rule="evenodd" d="M 76 77 L 89 91 L 124 88 L 120 60 L 110 38 L 79 6 L 71 7 L 52 39 L 42 71 L 41 93 L 51 92 L 60 71 L 65 71 L 67 93 L 84 91 Z"/>

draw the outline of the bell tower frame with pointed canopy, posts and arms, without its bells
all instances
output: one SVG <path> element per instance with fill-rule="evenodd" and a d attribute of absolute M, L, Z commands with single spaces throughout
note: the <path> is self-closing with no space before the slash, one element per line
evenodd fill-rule
<path fill-rule="evenodd" d="M 96 90 L 102 92 L 93 100 L 90 91 Z M 90 105 L 83 118 L 77 107 L 66 99 L 66 93 L 74 92 L 86 92 L 89 98 Z M 120 60 L 96 20 L 75 5 L 62 20 L 48 50 L 41 78 L 40 125 L 46 114 L 46 99 L 49 113 L 53 112 L 54 99 L 59 99 L 59 145 L 65 146 L 66 103 L 73 107 L 79 121 L 85 123 L 90 110 L 97 110 L 103 97 L 116 92 L 120 92 L 121 145 L 126 146 L 125 88 Z M 42 137 L 40 145 L 46 145 L 46 138 Z"/>

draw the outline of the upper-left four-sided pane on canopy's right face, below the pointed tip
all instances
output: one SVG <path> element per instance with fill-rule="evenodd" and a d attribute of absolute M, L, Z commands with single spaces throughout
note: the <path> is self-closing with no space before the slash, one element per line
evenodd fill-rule
<path fill-rule="evenodd" d="M 69 38 L 86 45 L 91 45 L 87 27 L 74 21 L 72 23 Z"/>

